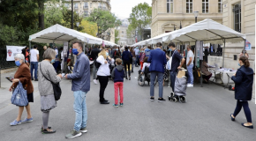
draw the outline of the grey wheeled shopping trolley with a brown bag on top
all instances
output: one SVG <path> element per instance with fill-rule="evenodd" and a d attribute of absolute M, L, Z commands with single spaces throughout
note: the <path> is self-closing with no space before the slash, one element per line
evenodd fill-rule
<path fill-rule="evenodd" d="M 185 74 L 184 69 L 181 69 L 179 73 Z M 180 103 L 185 103 L 185 95 L 186 95 L 186 77 L 183 75 L 181 78 L 176 77 L 175 85 L 174 85 L 174 93 L 170 93 L 170 96 L 168 96 L 168 99 L 170 101 L 177 102 L 179 100 Z"/>

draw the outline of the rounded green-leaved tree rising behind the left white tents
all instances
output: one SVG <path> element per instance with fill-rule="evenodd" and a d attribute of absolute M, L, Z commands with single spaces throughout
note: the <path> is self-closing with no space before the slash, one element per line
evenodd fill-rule
<path fill-rule="evenodd" d="M 87 20 L 97 24 L 98 37 L 109 28 L 117 26 L 116 22 L 118 21 L 115 14 L 109 11 L 102 11 L 101 9 L 94 9 Z"/>

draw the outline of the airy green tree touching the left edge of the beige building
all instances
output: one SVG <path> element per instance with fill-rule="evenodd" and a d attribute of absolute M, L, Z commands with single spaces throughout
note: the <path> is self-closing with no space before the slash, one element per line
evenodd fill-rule
<path fill-rule="evenodd" d="M 138 4 L 132 8 L 132 13 L 130 14 L 129 22 L 135 29 L 138 29 L 140 36 L 143 38 L 143 30 L 147 25 L 151 23 L 152 19 L 152 7 L 147 3 Z"/>

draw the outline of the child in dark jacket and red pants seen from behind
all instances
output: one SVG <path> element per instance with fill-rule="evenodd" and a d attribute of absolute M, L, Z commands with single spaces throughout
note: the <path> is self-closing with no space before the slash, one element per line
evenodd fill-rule
<path fill-rule="evenodd" d="M 115 104 L 113 107 L 118 108 L 118 88 L 120 94 L 120 106 L 124 105 L 124 95 L 123 95 L 123 85 L 124 85 L 124 66 L 122 66 L 122 60 L 116 59 L 117 67 L 115 67 L 111 73 L 111 77 L 114 79 L 114 88 L 115 88 Z"/>

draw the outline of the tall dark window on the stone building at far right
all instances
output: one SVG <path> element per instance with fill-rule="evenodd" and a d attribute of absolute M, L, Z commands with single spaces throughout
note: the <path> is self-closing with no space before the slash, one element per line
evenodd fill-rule
<path fill-rule="evenodd" d="M 241 4 L 235 4 L 233 8 L 234 12 L 234 29 L 241 33 Z"/>

